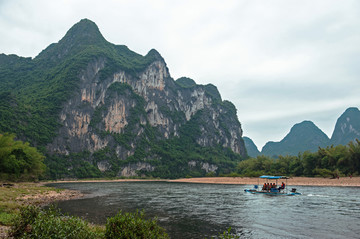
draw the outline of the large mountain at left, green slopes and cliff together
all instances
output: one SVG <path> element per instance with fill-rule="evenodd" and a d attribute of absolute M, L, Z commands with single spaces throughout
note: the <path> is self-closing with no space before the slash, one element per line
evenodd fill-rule
<path fill-rule="evenodd" d="M 155 61 L 163 62 L 164 69 L 152 65 Z M 211 172 L 203 168 L 204 163 L 216 164 L 218 170 L 213 174 L 219 175 L 230 172 L 241 160 L 239 152 L 242 157 L 246 156 L 241 145 L 241 126 L 236 109 L 230 102 L 221 100 L 214 85 L 197 85 L 189 78 L 174 81 L 169 74 L 164 73 L 161 75 L 164 76 L 164 82 L 159 89 L 169 88 L 166 94 L 170 94 L 170 97 L 160 92 L 162 90 L 153 91 L 156 87 L 150 86 L 145 91 L 151 91 L 154 95 L 150 100 L 155 108 L 146 108 L 149 97 L 136 91 L 137 86 L 143 85 L 135 87 L 128 82 L 114 83 L 111 77 L 121 72 L 128 81 L 137 83 L 144 83 L 141 80 L 146 77 L 145 81 L 149 82 L 161 78 L 160 75 L 151 78 L 156 70 L 167 72 L 161 55 L 153 49 L 142 56 L 126 46 L 109 43 L 90 20 L 83 19 L 75 24 L 64 38 L 48 46 L 34 59 L 1 54 L 0 63 L 0 133 L 15 133 L 17 138 L 36 146 L 46 156 L 46 178 L 115 177 L 126 165 L 138 163 L 149 163 L 154 169 L 138 170 L 137 174 L 144 176 L 205 176 Z M 155 69 L 154 72 L 144 75 L 150 66 Z M 84 90 L 81 88 L 82 77 L 87 76 L 90 68 L 96 72 L 92 78 L 96 80 L 91 83 L 101 85 L 106 82 L 104 88 L 91 92 L 94 98 L 100 93 L 105 95 L 104 102 L 99 100 L 101 103 L 94 105 L 90 105 L 87 99 L 83 100 L 81 95 L 81 90 Z M 86 82 L 86 85 L 91 84 Z M 176 98 L 179 94 L 183 94 L 181 99 Z M 206 96 L 206 100 L 205 97 L 197 98 L 202 96 Z M 63 112 L 68 105 L 74 105 L 75 97 L 81 99 L 77 108 Z M 104 125 L 104 117 L 114 97 L 124 99 L 127 107 L 127 124 L 121 132 L 111 131 Z M 179 103 L 181 100 L 182 108 Z M 215 113 L 208 109 L 199 110 L 200 107 L 192 105 L 194 102 L 199 105 L 209 104 L 216 109 L 215 113 L 220 118 L 219 128 L 224 132 L 217 132 L 220 130 L 209 123 Z M 81 141 L 91 141 L 86 146 L 85 143 L 79 143 L 83 135 L 79 136 L 74 130 L 69 134 L 64 133 L 71 131 L 71 128 L 63 128 L 66 123 L 82 123 L 60 119 L 61 116 L 70 118 L 74 109 L 79 109 L 76 112 L 81 113 L 76 117 L 86 115 L 90 119 L 86 127 L 79 127 L 81 132 L 88 128 L 84 136 L 87 138 Z M 155 110 L 160 120 L 166 118 L 167 125 L 149 122 L 148 115 Z M 234 126 L 232 132 L 231 125 Z M 230 137 L 234 132 L 239 138 L 236 142 L 240 145 L 237 153 L 227 148 L 230 147 Z M 212 140 L 210 145 L 201 145 L 196 140 L 201 133 L 204 134 L 203 138 Z M 54 143 L 57 137 L 61 139 Z M 95 141 L 106 143 L 94 149 Z M 196 167 L 189 167 L 189 161 L 192 160 L 198 162 Z M 100 170 L 99 165 L 104 165 L 102 169 L 105 170 Z"/>

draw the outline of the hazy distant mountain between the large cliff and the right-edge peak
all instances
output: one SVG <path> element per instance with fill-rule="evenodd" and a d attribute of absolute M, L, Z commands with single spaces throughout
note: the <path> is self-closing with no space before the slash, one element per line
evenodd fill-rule
<path fill-rule="evenodd" d="M 329 143 L 328 136 L 313 122 L 303 121 L 294 125 L 280 142 L 268 142 L 261 153 L 268 156 L 297 155 L 303 151 L 316 151 Z"/>

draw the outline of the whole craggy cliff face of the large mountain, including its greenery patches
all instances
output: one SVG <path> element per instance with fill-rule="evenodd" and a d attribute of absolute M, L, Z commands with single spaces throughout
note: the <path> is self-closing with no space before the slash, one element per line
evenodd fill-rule
<path fill-rule="evenodd" d="M 156 142 L 166 140 L 186 138 L 193 140 L 186 141 L 189 144 L 221 146 L 246 156 L 236 108 L 221 100 L 215 86 L 184 86 L 183 81 L 174 81 L 155 50 L 144 58 L 152 60 L 143 69 L 131 72 L 116 67 L 106 55 L 88 62 L 78 75 L 78 88 L 62 107 L 62 126 L 47 145 L 48 151 L 67 155 L 69 160 L 74 153 L 89 152 L 82 160 L 95 162 L 101 172 L 115 170 L 118 176 L 156 170 L 163 152 L 154 148 Z M 104 151 L 124 163 L 99 157 L 97 152 Z M 192 162 L 206 173 L 219 168 L 216 160 L 206 160 L 199 157 Z"/>

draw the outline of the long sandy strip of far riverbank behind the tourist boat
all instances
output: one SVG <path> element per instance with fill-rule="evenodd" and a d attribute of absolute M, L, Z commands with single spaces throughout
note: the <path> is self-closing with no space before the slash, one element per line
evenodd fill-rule
<path fill-rule="evenodd" d="M 95 182 L 181 182 L 181 183 L 209 183 L 209 184 L 238 184 L 248 185 L 261 183 L 263 180 L 250 177 L 204 177 L 204 178 L 180 178 L 180 179 L 100 179 L 100 180 L 66 180 L 54 181 L 48 183 L 95 183 Z M 332 187 L 360 187 L 360 177 L 340 177 L 331 178 L 309 178 L 309 177 L 291 177 L 288 179 L 288 185 L 293 186 L 332 186 Z"/>

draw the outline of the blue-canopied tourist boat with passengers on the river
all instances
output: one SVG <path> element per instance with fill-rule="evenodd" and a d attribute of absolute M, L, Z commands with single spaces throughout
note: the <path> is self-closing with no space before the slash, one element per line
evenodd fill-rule
<path fill-rule="evenodd" d="M 275 185 L 277 185 L 277 181 L 279 179 L 285 179 L 286 183 L 285 183 L 285 187 L 284 188 L 280 188 L 280 187 L 273 187 L 273 188 L 268 188 L 268 189 L 263 189 L 262 186 L 259 186 L 259 181 L 260 179 L 265 179 L 266 180 L 266 184 L 268 185 L 270 180 L 275 180 Z M 253 189 L 245 189 L 245 192 L 248 193 L 256 193 L 256 194 L 265 194 L 265 195 L 274 195 L 274 196 L 295 196 L 295 195 L 301 195 L 301 193 L 296 192 L 296 188 L 292 188 L 291 191 L 288 191 L 287 188 L 287 180 L 289 178 L 286 176 L 269 176 L 269 175 L 263 175 L 259 177 L 258 180 L 258 184 L 254 185 Z M 261 187 L 261 188 L 260 188 Z"/>

